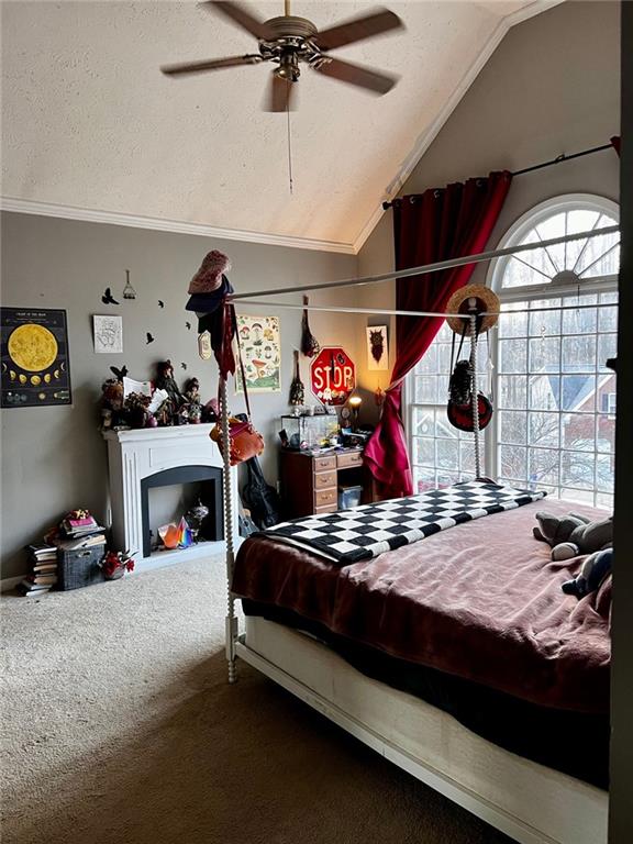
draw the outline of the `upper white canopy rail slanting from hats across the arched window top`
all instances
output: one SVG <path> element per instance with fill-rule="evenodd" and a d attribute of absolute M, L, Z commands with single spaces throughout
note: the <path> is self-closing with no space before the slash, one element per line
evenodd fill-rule
<path fill-rule="evenodd" d="M 277 293 L 304 293 L 307 290 L 330 290 L 338 287 L 358 287 L 360 285 L 373 285 L 378 281 L 390 281 L 392 278 L 408 278 L 409 276 L 423 276 L 427 273 L 436 273 L 442 269 L 452 269 L 453 267 L 463 267 L 466 264 L 479 264 L 484 260 L 503 257 L 504 255 L 514 255 L 517 252 L 529 252 L 531 249 L 542 249 L 547 246 L 556 246 L 559 243 L 568 241 L 580 241 L 582 238 L 598 237 L 602 234 L 614 234 L 620 231 L 619 225 L 607 225 L 603 229 L 592 229 L 589 232 L 579 232 L 578 234 L 566 234 L 560 237 L 552 237 L 548 241 L 536 241 L 536 243 L 523 243 L 518 246 L 506 246 L 502 249 L 492 249 L 481 252 L 478 255 L 465 255 L 462 258 L 448 258 L 447 260 L 437 260 L 434 264 L 424 264 L 421 267 L 409 267 L 408 269 L 398 269 L 392 273 L 384 273 L 380 276 L 366 276 L 364 278 L 348 278 L 343 281 L 322 281 L 318 285 L 301 285 L 299 287 L 275 287 L 270 290 L 251 290 L 247 293 L 231 293 L 226 297 L 230 302 L 238 299 L 253 299 L 262 296 L 275 296 Z"/>

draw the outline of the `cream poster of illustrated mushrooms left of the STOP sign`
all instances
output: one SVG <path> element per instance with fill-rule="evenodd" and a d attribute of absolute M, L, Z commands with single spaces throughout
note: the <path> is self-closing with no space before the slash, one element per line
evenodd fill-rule
<path fill-rule="evenodd" d="M 281 389 L 281 343 L 278 316 L 237 316 L 240 347 L 248 392 L 279 392 Z M 242 378 L 237 378 L 242 391 Z"/>

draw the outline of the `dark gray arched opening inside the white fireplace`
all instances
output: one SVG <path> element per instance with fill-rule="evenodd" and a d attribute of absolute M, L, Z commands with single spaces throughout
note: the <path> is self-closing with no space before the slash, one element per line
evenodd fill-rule
<path fill-rule="evenodd" d="M 157 533 L 158 524 L 151 522 L 149 496 L 151 490 L 159 487 L 178 486 L 182 488 L 180 496 L 182 511 L 189 509 L 198 500 L 209 508 L 209 515 L 202 522 L 200 538 L 211 542 L 220 542 L 224 538 L 224 519 L 222 512 L 222 469 L 213 466 L 177 466 L 173 469 L 157 471 L 147 478 L 141 479 L 141 523 L 143 533 L 143 556 L 152 554 L 152 531 Z M 170 497 L 174 500 L 174 497 Z M 163 506 L 165 507 L 164 497 Z M 168 503 L 167 503 L 168 506 Z M 164 524 L 165 522 L 160 522 Z"/>

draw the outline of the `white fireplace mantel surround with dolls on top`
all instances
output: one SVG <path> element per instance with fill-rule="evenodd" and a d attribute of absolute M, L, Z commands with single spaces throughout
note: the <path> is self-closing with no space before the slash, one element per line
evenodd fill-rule
<path fill-rule="evenodd" d="M 113 540 L 120 549 L 134 554 L 135 570 L 179 563 L 196 556 L 210 556 L 225 551 L 224 542 L 201 542 L 180 551 L 157 551 L 143 556 L 141 481 L 165 469 L 184 466 L 212 466 L 223 470 L 222 455 L 209 437 L 212 424 L 146 427 L 108 431 L 110 508 Z M 237 473 L 231 469 L 233 523 L 237 542 Z"/>

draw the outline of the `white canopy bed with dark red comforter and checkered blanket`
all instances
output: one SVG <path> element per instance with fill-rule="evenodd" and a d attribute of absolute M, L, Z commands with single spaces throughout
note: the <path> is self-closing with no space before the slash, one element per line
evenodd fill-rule
<path fill-rule="evenodd" d="M 314 287 L 420 276 L 438 265 L 466 266 L 503 252 L 509 251 Z M 262 303 L 262 297 L 292 291 L 230 292 L 224 319 L 231 322 L 238 300 Z M 420 315 L 464 321 L 471 338 L 482 319 L 503 315 L 481 310 L 473 297 L 468 302 L 466 311 Z M 229 443 L 226 378 L 234 368 L 223 369 L 222 353 L 216 357 L 221 432 Z M 478 451 L 477 395 L 474 382 Z M 230 449 L 223 457 L 231 523 Z M 229 681 L 236 680 L 236 658 L 243 659 L 522 844 L 600 844 L 607 840 L 608 814 L 610 580 L 581 600 L 564 595 L 562 582 L 577 574 L 581 560 L 553 563 L 534 538 L 541 495 L 498 488 L 488 479 L 477 485 L 486 495 L 501 489 L 503 504 L 456 502 L 463 496 L 457 485 L 447 491 L 444 510 L 433 512 L 432 529 L 421 526 L 431 519 L 425 500 L 415 536 L 409 536 L 402 517 L 392 533 L 408 533 L 407 540 L 392 542 L 387 530 L 388 540 L 379 537 L 386 540 L 382 546 L 375 542 L 367 553 L 332 555 L 323 545 L 306 547 L 296 536 L 276 536 L 273 528 L 248 538 L 235 558 L 229 534 Z M 547 503 L 555 514 L 568 509 L 564 502 Z M 344 521 L 357 512 L 327 514 L 334 520 L 329 530 L 346 540 L 354 531 Z M 590 508 L 581 513 L 596 517 Z M 244 631 L 236 599 L 243 600 Z"/>

